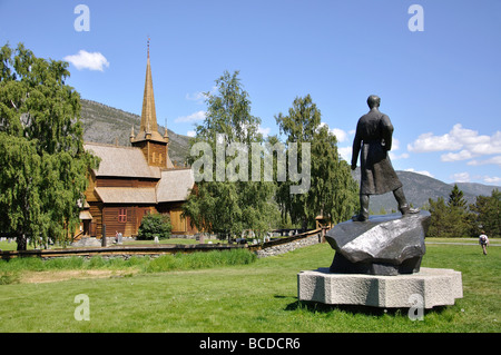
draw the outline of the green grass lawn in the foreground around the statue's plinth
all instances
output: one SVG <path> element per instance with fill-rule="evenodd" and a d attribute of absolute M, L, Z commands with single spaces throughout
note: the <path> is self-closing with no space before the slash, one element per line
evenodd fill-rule
<path fill-rule="evenodd" d="M 500 247 L 484 256 L 478 245 L 428 245 L 423 266 L 462 272 L 464 297 L 422 322 L 406 309 L 298 303 L 297 273 L 328 266 L 333 254 L 322 244 L 248 265 L 0 285 L 0 333 L 501 331 Z M 79 294 L 89 297 L 88 322 L 73 316 Z"/>

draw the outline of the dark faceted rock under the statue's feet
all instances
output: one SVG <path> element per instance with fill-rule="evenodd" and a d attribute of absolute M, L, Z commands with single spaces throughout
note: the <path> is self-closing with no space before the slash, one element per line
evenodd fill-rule
<path fill-rule="evenodd" d="M 399 275 L 418 273 L 425 253 L 430 213 L 371 216 L 347 220 L 327 231 L 336 252 L 331 273 Z"/>

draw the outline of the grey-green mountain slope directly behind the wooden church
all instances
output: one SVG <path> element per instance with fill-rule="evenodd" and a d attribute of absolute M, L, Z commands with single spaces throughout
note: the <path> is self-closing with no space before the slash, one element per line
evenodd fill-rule
<path fill-rule="evenodd" d="M 84 140 L 119 146 L 130 146 L 130 130 L 139 131 L 141 117 L 135 114 L 106 106 L 90 100 L 80 100 L 81 121 L 84 124 Z M 158 131 L 164 135 L 165 127 L 158 126 Z M 170 160 L 184 162 L 189 155 L 189 137 L 169 134 Z"/>

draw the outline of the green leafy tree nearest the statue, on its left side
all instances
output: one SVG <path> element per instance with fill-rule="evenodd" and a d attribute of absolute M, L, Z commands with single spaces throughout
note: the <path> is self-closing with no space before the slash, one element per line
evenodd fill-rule
<path fill-rule="evenodd" d="M 312 97 L 297 97 L 288 116 L 278 114 L 275 119 L 281 132 L 287 136 L 286 144 L 298 144 L 298 152 L 301 145 L 311 144 L 308 191 L 292 195 L 292 181 L 278 184 L 277 201 L 283 219 L 289 215 L 293 223 L 302 223 L 303 227 L 313 227 L 315 217 L 321 214 L 334 224 L 348 219 L 357 206 L 358 186 L 347 162 L 338 155 L 336 137 L 325 125 L 321 126 L 322 115 Z"/>

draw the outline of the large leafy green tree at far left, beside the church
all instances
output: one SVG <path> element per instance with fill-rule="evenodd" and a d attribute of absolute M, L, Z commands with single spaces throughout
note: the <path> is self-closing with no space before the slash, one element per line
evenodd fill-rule
<path fill-rule="evenodd" d="M 66 241 L 79 223 L 86 174 L 80 97 L 68 63 L 37 58 L 22 43 L 0 49 L 0 230 L 26 249 Z M 3 191 L 8 191 L 3 194 Z"/>

